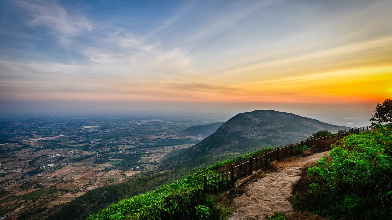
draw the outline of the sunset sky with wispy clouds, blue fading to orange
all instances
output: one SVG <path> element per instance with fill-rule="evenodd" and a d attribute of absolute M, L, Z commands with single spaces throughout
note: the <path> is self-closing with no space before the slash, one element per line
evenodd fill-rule
<path fill-rule="evenodd" d="M 390 0 L 2 0 L 0 114 L 371 115 L 392 95 L 391 11 Z"/>

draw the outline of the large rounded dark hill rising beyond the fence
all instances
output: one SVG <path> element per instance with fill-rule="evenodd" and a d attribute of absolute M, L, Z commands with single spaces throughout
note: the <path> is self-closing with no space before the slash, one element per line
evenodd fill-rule
<path fill-rule="evenodd" d="M 208 165 L 235 154 L 301 141 L 324 129 L 337 133 L 348 127 L 274 110 L 245 112 L 223 123 L 198 144 L 169 156 L 167 160 L 171 167 L 189 162 L 195 166 L 198 163 Z"/>

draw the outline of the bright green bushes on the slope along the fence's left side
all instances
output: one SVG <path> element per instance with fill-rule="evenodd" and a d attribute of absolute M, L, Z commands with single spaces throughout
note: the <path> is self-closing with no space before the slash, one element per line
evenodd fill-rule
<path fill-rule="evenodd" d="M 217 170 L 227 164 L 239 164 L 249 160 L 250 156 L 264 155 L 272 149 L 263 148 L 231 160 L 223 160 L 172 184 L 111 204 L 88 219 L 224 219 L 230 216 L 231 209 L 213 196 L 203 193 L 203 175 L 218 175 Z M 218 179 L 210 182 L 209 188 L 214 189 L 214 193 L 220 192 L 231 188 L 231 182 Z"/>

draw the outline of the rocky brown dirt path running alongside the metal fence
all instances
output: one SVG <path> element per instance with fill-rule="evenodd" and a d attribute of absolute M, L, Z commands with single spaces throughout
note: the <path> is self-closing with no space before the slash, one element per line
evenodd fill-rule
<path fill-rule="evenodd" d="M 258 220 L 265 219 L 274 211 L 286 215 L 294 215 L 290 204 L 291 186 L 299 179 L 301 168 L 314 164 L 329 151 L 315 153 L 309 156 L 288 157 L 274 164 L 276 171 L 268 174 L 260 173 L 260 179 L 254 179 L 241 186 L 245 191 L 240 197 L 234 198 L 232 205 L 234 213 L 229 220 Z M 264 176 L 264 177 L 263 177 Z"/>

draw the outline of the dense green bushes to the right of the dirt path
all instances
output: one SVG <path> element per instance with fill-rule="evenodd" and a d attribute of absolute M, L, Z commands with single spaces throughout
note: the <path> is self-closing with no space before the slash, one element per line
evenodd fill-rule
<path fill-rule="evenodd" d="M 330 157 L 309 168 L 309 185 L 292 197 L 292 205 L 331 219 L 390 219 L 390 126 L 351 134 L 332 146 Z"/>

